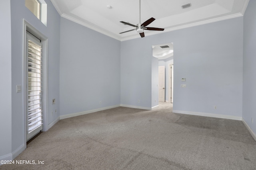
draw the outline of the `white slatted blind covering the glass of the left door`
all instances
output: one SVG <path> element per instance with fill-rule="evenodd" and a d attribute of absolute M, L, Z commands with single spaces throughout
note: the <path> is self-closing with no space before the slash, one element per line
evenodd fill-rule
<path fill-rule="evenodd" d="M 42 48 L 28 39 L 28 133 L 42 123 Z"/>

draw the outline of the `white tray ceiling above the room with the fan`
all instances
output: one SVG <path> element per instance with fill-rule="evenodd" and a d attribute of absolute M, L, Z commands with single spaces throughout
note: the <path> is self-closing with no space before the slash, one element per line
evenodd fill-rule
<path fill-rule="evenodd" d="M 60 16 L 125 41 L 140 37 L 133 25 L 139 23 L 139 0 L 51 0 Z M 153 17 L 148 27 L 164 31 L 145 30 L 145 37 L 214 21 L 243 16 L 249 0 L 141 0 L 141 23 Z M 182 9 L 184 4 L 191 7 Z M 107 6 L 112 8 L 107 8 Z"/>

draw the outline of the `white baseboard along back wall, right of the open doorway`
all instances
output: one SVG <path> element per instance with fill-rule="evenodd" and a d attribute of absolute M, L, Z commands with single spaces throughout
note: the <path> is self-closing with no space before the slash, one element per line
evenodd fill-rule
<path fill-rule="evenodd" d="M 239 116 L 231 116 L 231 115 L 219 115 L 213 113 L 203 113 L 203 112 L 195 112 L 195 111 L 182 111 L 182 110 L 172 110 L 173 113 L 181 113 L 187 115 L 197 115 L 197 116 L 206 116 L 206 117 L 216 117 L 222 119 L 232 119 L 232 120 L 242 120 L 242 117 Z"/>

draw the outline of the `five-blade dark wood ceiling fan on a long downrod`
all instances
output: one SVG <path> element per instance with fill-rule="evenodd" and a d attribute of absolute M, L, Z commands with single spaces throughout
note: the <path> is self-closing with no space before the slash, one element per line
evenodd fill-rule
<path fill-rule="evenodd" d="M 128 22 L 124 22 L 124 21 L 120 21 L 121 23 L 124 23 L 126 25 L 130 25 L 130 26 L 133 26 L 133 27 L 136 27 L 135 29 L 131 29 L 129 31 L 133 31 L 133 30 L 136 30 L 137 33 L 140 33 L 140 37 L 145 37 L 144 35 L 144 30 L 152 30 L 152 31 L 164 31 L 164 28 L 154 28 L 154 27 L 146 27 L 147 25 L 149 25 L 150 23 L 152 23 L 154 20 L 156 20 L 155 18 L 150 18 L 148 20 L 146 20 L 144 23 L 138 23 L 137 25 L 133 25 L 133 24 L 130 24 Z M 124 31 L 122 33 L 126 33 L 126 32 L 129 32 L 129 31 Z M 120 34 L 122 34 L 120 33 Z"/>

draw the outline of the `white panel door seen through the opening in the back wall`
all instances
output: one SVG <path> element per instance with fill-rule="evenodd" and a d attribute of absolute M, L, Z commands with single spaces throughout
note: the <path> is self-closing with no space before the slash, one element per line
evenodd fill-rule
<path fill-rule="evenodd" d="M 158 101 L 165 102 L 165 67 L 158 66 Z"/>

